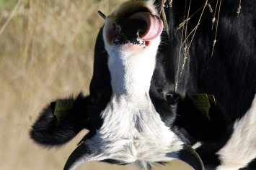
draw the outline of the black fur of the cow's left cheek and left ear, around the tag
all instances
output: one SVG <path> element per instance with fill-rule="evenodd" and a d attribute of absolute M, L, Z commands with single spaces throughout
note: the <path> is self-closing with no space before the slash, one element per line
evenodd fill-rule
<path fill-rule="evenodd" d="M 94 52 L 94 74 L 90 85 L 90 95 L 80 93 L 76 98 L 61 98 L 58 100 L 74 100 L 74 106 L 61 121 L 54 115 L 56 101 L 45 106 L 37 121 L 30 130 L 30 138 L 44 147 L 62 146 L 69 142 L 82 129 L 89 133 L 79 142 L 94 136 L 96 129 L 102 126 L 101 111 L 110 100 L 112 89 L 110 73 L 107 67 L 107 52 L 104 49 L 102 29 L 97 38 Z M 102 74 L 104 72 L 104 74 Z"/>

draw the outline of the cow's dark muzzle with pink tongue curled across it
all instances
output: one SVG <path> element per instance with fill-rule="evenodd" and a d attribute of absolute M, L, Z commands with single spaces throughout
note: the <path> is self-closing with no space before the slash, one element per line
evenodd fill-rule
<path fill-rule="evenodd" d="M 120 9 L 118 14 L 105 17 L 105 40 L 110 45 L 149 44 L 162 33 L 163 22 L 151 9 L 140 6 L 133 11 Z M 120 12 L 122 11 L 122 12 Z"/>

